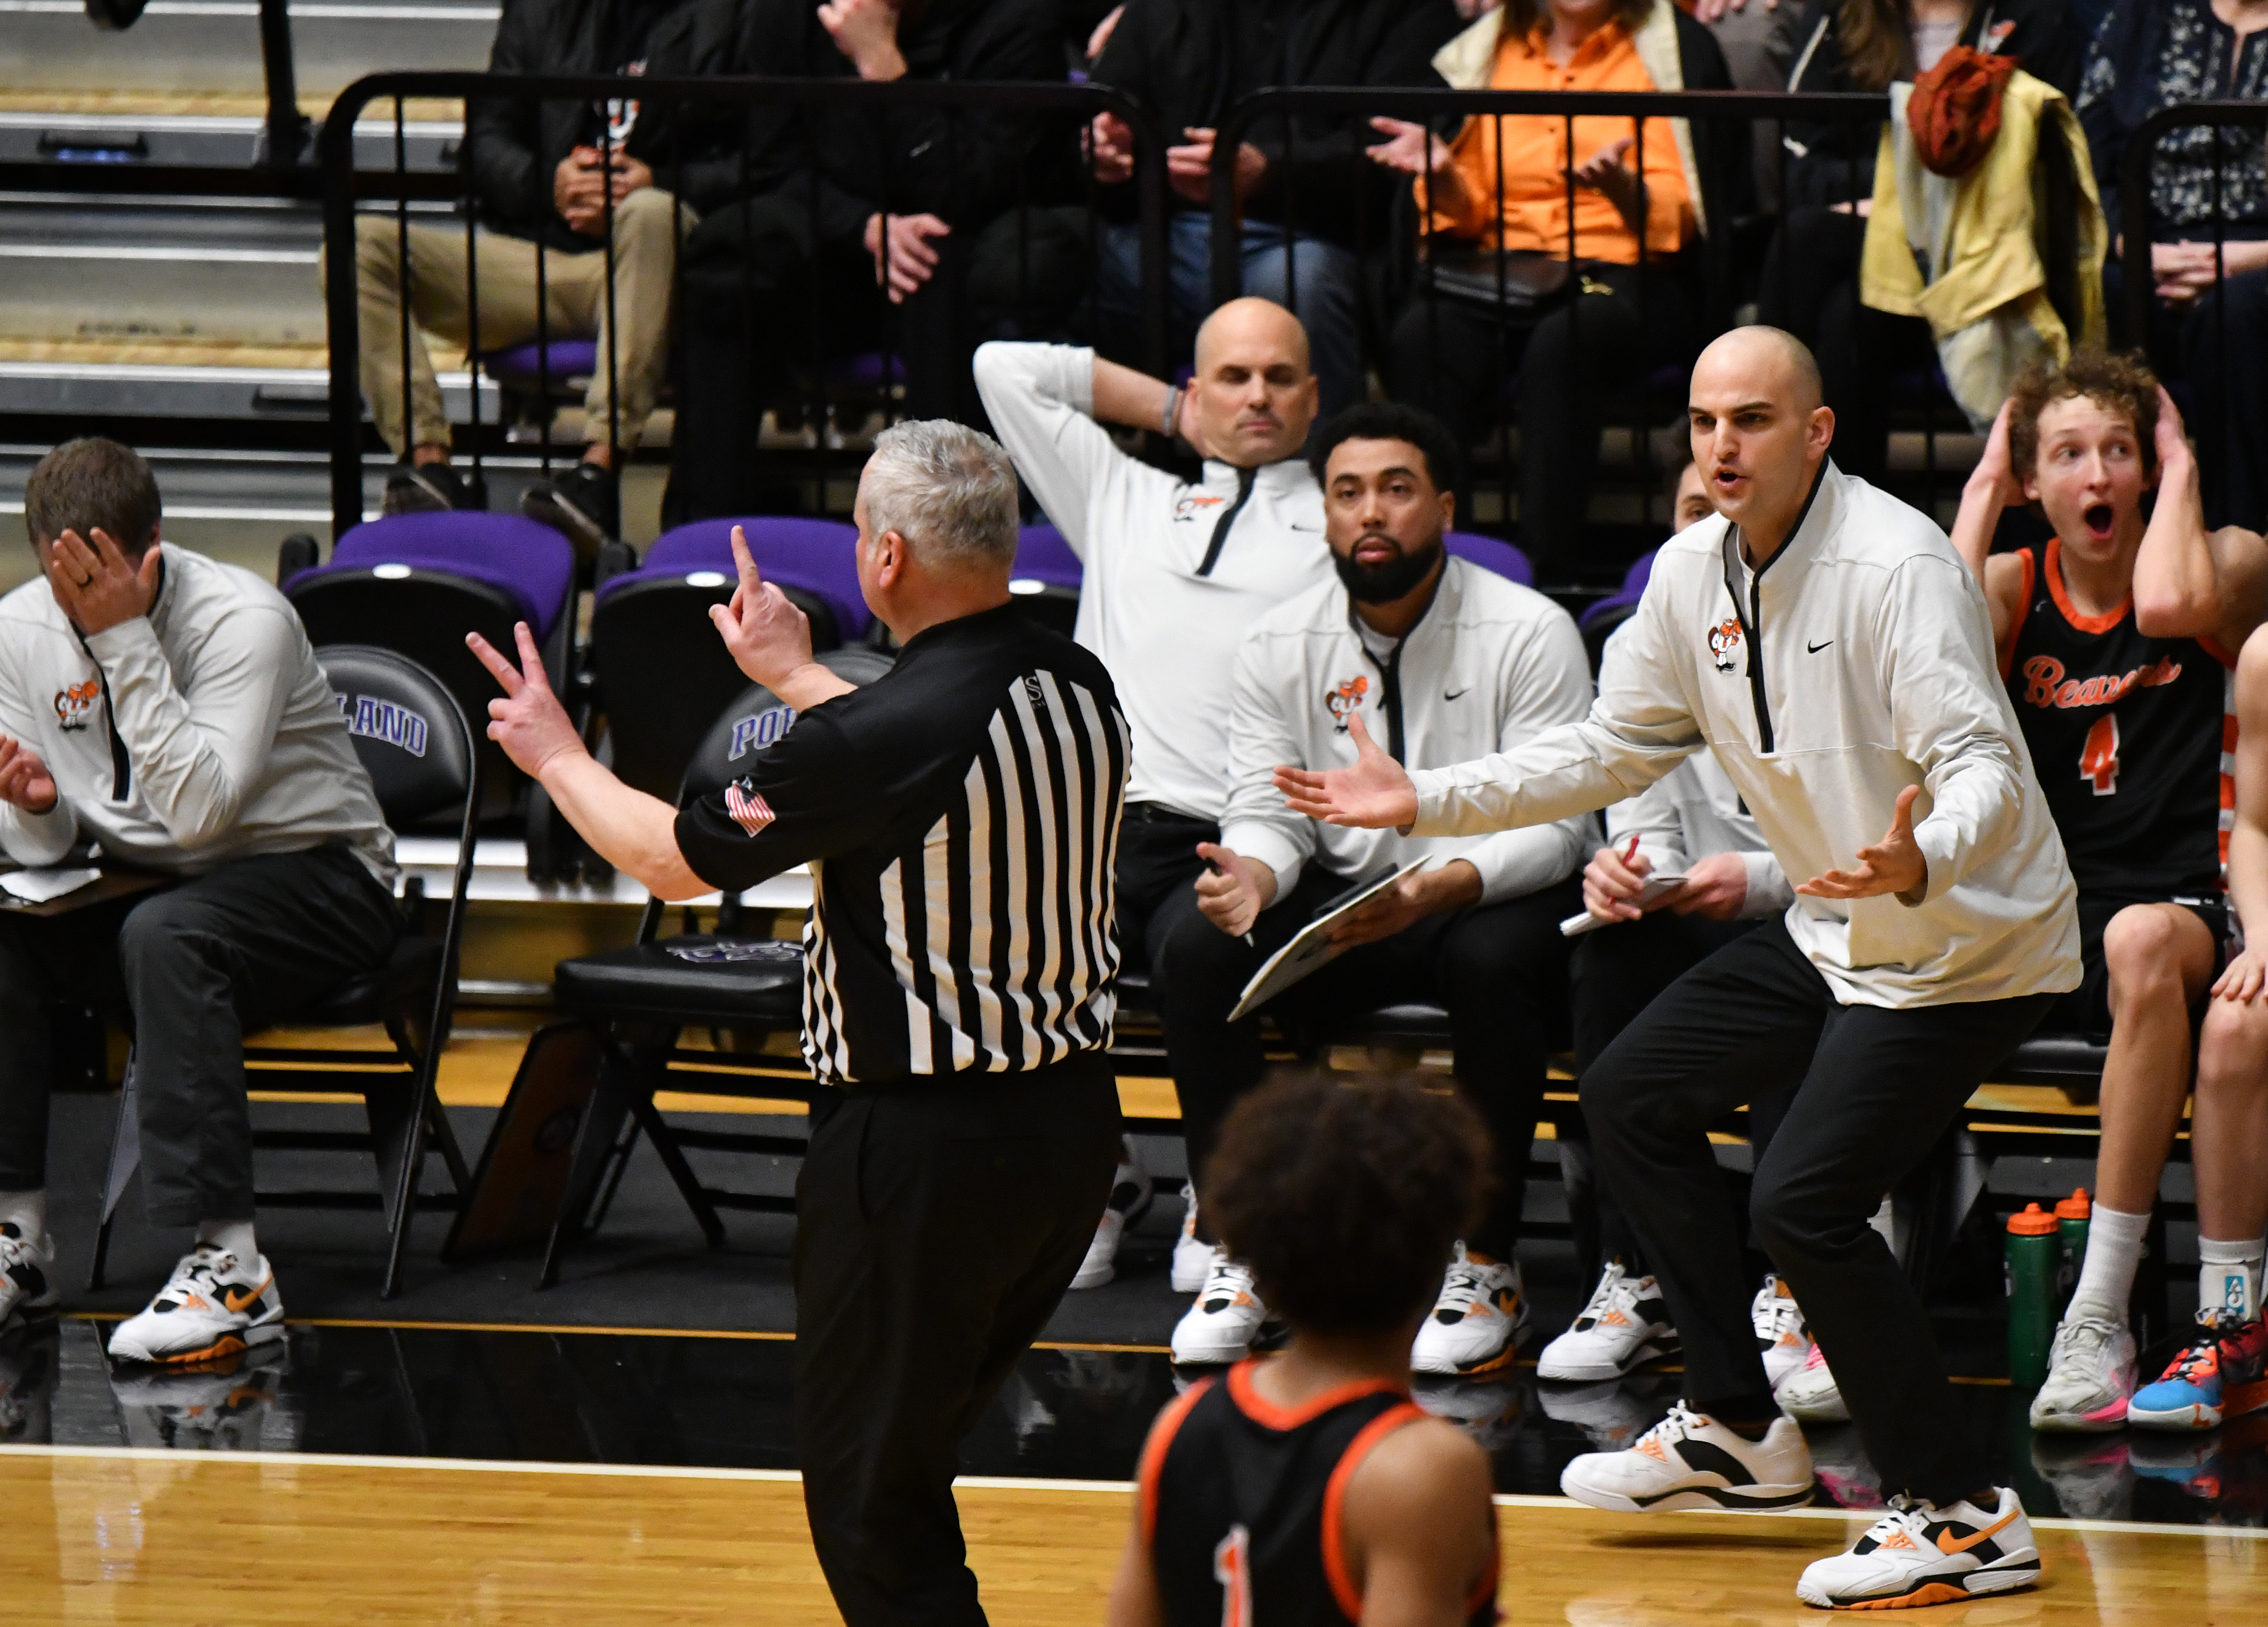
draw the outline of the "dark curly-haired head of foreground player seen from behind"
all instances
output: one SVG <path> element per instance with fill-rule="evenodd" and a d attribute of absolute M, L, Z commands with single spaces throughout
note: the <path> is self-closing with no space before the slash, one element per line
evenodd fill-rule
<path fill-rule="evenodd" d="M 1202 1189 L 1295 1337 L 1390 1334 L 1406 1371 L 1488 1171 L 1488 1130 L 1452 1091 L 1293 1073 L 1236 1103 Z"/>

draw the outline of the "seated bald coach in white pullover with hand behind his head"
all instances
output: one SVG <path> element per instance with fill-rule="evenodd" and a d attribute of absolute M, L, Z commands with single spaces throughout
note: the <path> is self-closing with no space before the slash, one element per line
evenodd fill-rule
<path fill-rule="evenodd" d="M 1300 320 L 1232 300 L 1198 331 L 1186 393 L 1070 345 L 982 345 L 978 390 L 1016 472 L 1084 565 L 1077 640 L 1102 658 L 1134 731 L 1118 842 L 1127 969 L 1195 912 L 1198 844 L 1229 796 L 1236 647 L 1331 579 L 1322 492 L 1302 458 L 1315 374 Z M 1175 429 L 1204 454 L 1186 483 L 1102 424 Z M 1161 998 L 1161 992 L 1159 992 Z"/>

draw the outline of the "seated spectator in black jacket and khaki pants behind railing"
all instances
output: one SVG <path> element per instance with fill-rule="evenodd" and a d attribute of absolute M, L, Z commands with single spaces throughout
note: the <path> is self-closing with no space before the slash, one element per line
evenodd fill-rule
<path fill-rule="evenodd" d="M 642 75 L 687 0 L 513 0 L 497 25 L 490 73 Z M 551 338 L 596 338 L 585 406 L 583 463 L 524 501 L 538 520 L 596 549 L 619 531 L 617 447 L 637 445 L 667 365 L 676 236 L 692 211 L 653 184 L 653 118 L 635 100 L 476 100 L 465 113 L 463 166 L 479 227 L 481 334 L 472 334 L 472 279 L 458 227 L 408 227 L 404 327 L 401 236 L 392 211 L 361 216 L 354 284 L 363 393 L 379 433 L 404 463 L 386 486 L 386 511 L 465 508 L 479 501 L 449 467 L 449 420 L 424 334 L 481 352 Z M 606 236 L 615 234 L 608 327 Z M 544 254 L 544 324 L 538 322 L 538 245 Z M 422 329 L 422 331 L 420 331 Z M 608 349 L 612 347 L 612 368 Z M 408 422 L 404 422 L 404 354 Z"/>

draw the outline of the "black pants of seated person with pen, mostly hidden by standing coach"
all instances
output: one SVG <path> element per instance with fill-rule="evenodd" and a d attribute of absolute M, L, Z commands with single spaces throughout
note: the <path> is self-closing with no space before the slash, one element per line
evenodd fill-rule
<path fill-rule="evenodd" d="M 1574 1010 L 1574 1076 L 1581 1080 L 1606 1055 L 1624 1028 L 1660 998 L 1662 989 L 1699 967 L 1726 944 L 1753 933 L 1758 921 L 1712 921 L 1706 914 L 1653 910 L 1637 921 L 1603 926 L 1576 939 L 1569 973 Z M 1767 1135 L 1755 1123 L 1758 1105 L 1749 1103 L 1751 1141 L 1762 1157 Z M 1567 1187 L 1567 1223 L 1574 1230 L 1576 1266 L 1585 1282 L 1599 1266 L 1619 1259 L 1633 1273 L 1647 1271 L 1647 1250 L 1615 1200 L 1615 1191 L 1597 1178 L 1597 1155 L 1590 1126 L 1576 1112 L 1560 1126 L 1560 1178 Z"/>

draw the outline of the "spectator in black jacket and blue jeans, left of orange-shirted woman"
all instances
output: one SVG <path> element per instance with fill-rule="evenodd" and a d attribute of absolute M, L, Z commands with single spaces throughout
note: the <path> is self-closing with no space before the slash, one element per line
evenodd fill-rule
<path fill-rule="evenodd" d="M 1198 322 L 1213 309 L 1213 132 L 1229 107 L 1270 84 L 1438 88 L 1429 59 L 1456 29 L 1452 0 L 1127 0 L 1093 77 L 1134 95 L 1170 143 L 1168 363 L 1188 359 Z M 1284 120 L 1261 120 L 1236 157 L 1238 293 L 1297 313 L 1313 347 L 1322 418 L 1363 397 L 1356 256 L 1386 241 L 1393 218 L 1388 177 L 1361 161 L 1365 136 L 1361 118 L 1300 118 L 1288 132 Z M 1132 132 L 1100 116 L 1093 152 L 1105 209 L 1118 216 L 1102 229 L 1095 268 L 1105 345 L 1132 352 L 1141 309 L 1141 234 L 1127 184 Z"/>

